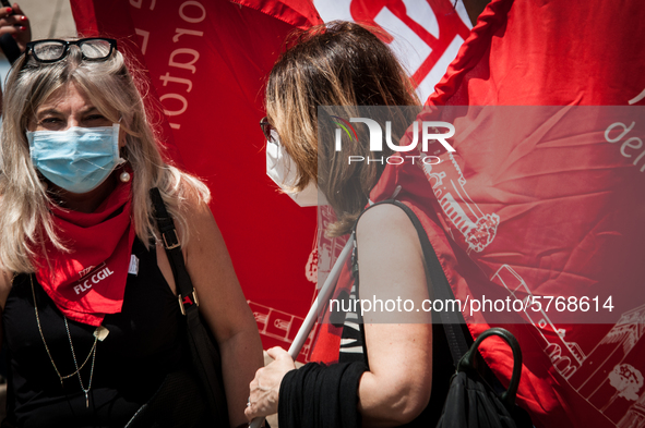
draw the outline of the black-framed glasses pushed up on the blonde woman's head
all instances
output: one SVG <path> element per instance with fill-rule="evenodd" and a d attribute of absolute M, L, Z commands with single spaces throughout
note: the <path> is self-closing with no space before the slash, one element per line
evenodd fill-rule
<path fill-rule="evenodd" d="M 57 62 L 68 56 L 70 46 L 77 46 L 86 61 L 105 61 L 115 50 L 117 40 L 111 38 L 82 38 L 80 40 L 67 41 L 59 39 L 46 39 L 29 41 L 25 53 L 32 53 L 38 62 Z"/>

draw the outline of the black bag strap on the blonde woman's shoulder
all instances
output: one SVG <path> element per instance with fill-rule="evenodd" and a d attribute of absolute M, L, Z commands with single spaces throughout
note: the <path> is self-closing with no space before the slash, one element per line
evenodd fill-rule
<path fill-rule="evenodd" d="M 164 240 L 164 248 L 168 255 L 168 261 L 172 269 L 172 277 L 177 285 L 177 299 L 179 301 L 179 308 L 182 315 L 187 310 L 196 310 L 200 305 L 198 293 L 192 285 L 186 264 L 183 261 L 183 254 L 181 253 L 181 245 L 177 237 L 177 230 L 175 222 L 166 209 L 166 204 L 162 198 L 162 194 L 157 187 L 151 188 L 150 196 L 155 207 L 155 218 L 157 219 L 157 227 Z"/>

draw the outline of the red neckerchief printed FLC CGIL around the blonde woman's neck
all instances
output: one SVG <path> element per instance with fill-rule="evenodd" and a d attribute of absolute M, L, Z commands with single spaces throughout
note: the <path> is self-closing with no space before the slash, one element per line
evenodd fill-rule
<path fill-rule="evenodd" d="M 106 314 L 121 311 L 134 224 L 131 182 L 119 183 L 92 213 L 51 206 L 56 231 L 70 253 L 51 242 L 38 254 L 36 278 L 70 319 L 100 326 Z"/>

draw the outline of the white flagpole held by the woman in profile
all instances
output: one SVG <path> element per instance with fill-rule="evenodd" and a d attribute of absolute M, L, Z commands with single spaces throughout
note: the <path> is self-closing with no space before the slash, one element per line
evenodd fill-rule
<path fill-rule="evenodd" d="M 313 328 L 313 325 L 318 319 L 319 310 L 324 307 L 325 303 L 332 296 L 332 293 L 336 288 L 336 281 L 338 281 L 338 277 L 341 276 L 341 270 L 345 265 L 345 260 L 347 260 L 347 257 L 349 257 L 349 255 L 351 254 L 353 247 L 354 234 L 350 234 L 349 239 L 347 239 L 345 247 L 338 256 L 338 259 L 336 259 L 336 262 L 334 264 L 334 267 L 332 268 L 330 276 L 325 280 L 325 283 L 320 290 L 320 293 L 318 293 L 318 297 L 315 297 L 313 305 L 311 305 L 311 309 L 309 309 L 309 314 L 307 314 L 307 317 L 304 318 L 302 326 L 300 326 L 300 330 L 298 330 L 296 339 L 294 339 L 294 342 L 291 342 L 291 346 L 289 346 L 289 355 L 291 356 L 291 358 L 294 358 L 294 360 L 296 360 L 296 357 L 298 356 L 298 354 L 300 354 L 300 350 L 304 345 L 304 342 L 307 341 L 307 338 L 309 337 L 309 333 L 311 332 L 311 329 Z M 249 424 L 249 428 L 260 428 L 263 421 L 264 417 L 256 417 L 255 419 L 253 419 L 251 424 Z"/>

